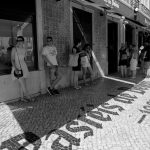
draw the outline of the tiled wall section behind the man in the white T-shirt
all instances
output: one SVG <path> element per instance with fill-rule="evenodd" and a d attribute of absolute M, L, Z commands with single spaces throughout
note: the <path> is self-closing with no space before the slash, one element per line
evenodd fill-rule
<path fill-rule="evenodd" d="M 60 65 L 67 64 L 70 41 L 70 18 L 68 0 L 43 0 L 43 31 L 45 37 L 50 35 L 58 50 Z"/>

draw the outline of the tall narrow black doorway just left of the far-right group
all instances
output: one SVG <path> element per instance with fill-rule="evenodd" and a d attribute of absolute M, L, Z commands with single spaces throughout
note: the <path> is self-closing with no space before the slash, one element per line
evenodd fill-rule
<path fill-rule="evenodd" d="M 108 22 L 108 74 L 116 73 L 118 66 L 118 24 Z"/>

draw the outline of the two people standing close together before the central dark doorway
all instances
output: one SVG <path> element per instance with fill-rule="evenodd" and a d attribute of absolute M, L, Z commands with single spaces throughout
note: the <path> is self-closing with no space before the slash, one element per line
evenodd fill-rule
<path fill-rule="evenodd" d="M 87 85 L 86 76 L 87 71 L 90 73 L 90 80 L 93 81 L 93 70 L 91 67 L 92 60 L 92 49 L 90 44 L 85 44 L 83 49 L 81 49 L 81 40 L 76 39 L 75 44 L 72 48 L 72 53 L 69 58 L 69 66 L 72 67 L 72 75 L 71 75 L 71 85 L 75 89 L 80 89 L 78 78 L 80 71 L 83 73 L 83 82 L 84 85 Z"/>

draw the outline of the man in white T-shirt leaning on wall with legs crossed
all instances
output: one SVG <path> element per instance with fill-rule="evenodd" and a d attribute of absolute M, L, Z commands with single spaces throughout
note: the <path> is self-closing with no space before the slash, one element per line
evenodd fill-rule
<path fill-rule="evenodd" d="M 55 95 L 59 94 L 56 86 L 61 80 L 61 74 L 58 72 L 57 49 L 53 45 L 52 37 L 48 36 L 46 38 L 46 43 L 46 46 L 43 47 L 42 56 L 47 63 L 50 77 L 50 86 L 47 88 L 47 92 L 50 95 Z"/>

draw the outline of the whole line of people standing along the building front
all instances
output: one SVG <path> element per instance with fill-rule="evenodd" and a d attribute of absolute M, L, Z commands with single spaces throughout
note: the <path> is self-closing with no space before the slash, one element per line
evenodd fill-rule
<path fill-rule="evenodd" d="M 12 62 L 12 79 L 18 80 L 21 87 L 21 101 L 34 101 L 27 89 L 27 78 L 29 77 L 29 70 L 25 62 L 26 49 L 24 47 L 24 37 L 18 36 L 17 44 L 12 48 L 11 62 Z M 43 60 L 46 62 L 46 68 L 49 73 L 49 83 L 47 82 L 47 92 L 50 95 L 60 94 L 58 91 L 58 82 L 62 79 L 59 71 L 59 64 L 57 61 L 57 48 L 53 44 L 53 38 L 48 36 L 46 38 L 46 45 L 42 50 Z M 86 43 L 81 48 L 81 40 L 76 39 L 69 57 L 69 66 L 71 67 L 71 85 L 75 89 L 80 89 L 79 75 L 82 71 L 83 83 L 87 85 L 87 72 L 90 75 L 90 81 L 93 82 L 94 74 L 92 69 L 92 48 Z M 145 43 L 140 50 L 136 49 L 135 45 L 127 47 L 125 44 L 121 45 L 119 50 L 119 66 L 121 77 L 136 78 L 137 66 L 140 62 L 144 75 L 150 77 L 150 44 Z"/>

